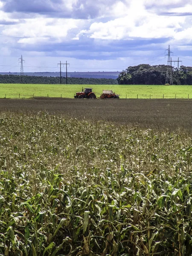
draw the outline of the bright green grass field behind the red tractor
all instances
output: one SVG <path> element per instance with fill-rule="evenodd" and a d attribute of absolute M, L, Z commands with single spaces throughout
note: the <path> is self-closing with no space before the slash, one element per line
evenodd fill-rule
<path fill-rule="evenodd" d="M 1 84 L 0 98 L 30 98 L 35 96 L 73 98 L 82 87 L 92 87 L 96 96 L 102 90 L 113 90 L 120 94 L 120 98 L 155 99 L 188 98 L 192 99 L 192 86 L 190 85 L 105 85 L 105 84 Z"/>

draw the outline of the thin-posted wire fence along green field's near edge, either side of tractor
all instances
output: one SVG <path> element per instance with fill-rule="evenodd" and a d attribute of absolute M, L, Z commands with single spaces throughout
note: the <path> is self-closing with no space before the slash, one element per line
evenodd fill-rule
<path fill-rule="evenodd" d="M 66 98 L 64 94 L 58 94 L 57 96 L 52 96 L 51 94 L 45 94 L 45 95 L 35 95 L 34 93 L 31 95 L 29 94 L 16 94 L 16 93 L 6 93 L 4 96 L 0 96 L 1 99 L 30 99 L 30 98 Z M 67 97 L 68 98 L 68 97 Z M 73 98 L 73 97 L 72 97 Z M 187 94 L 186 96 L 180 96 L 179 94 L 172 94 L 172 96 L 169 95 L 153 95 L 153 94 L 120 94 L 120 99 L 192 99 Z"/>

